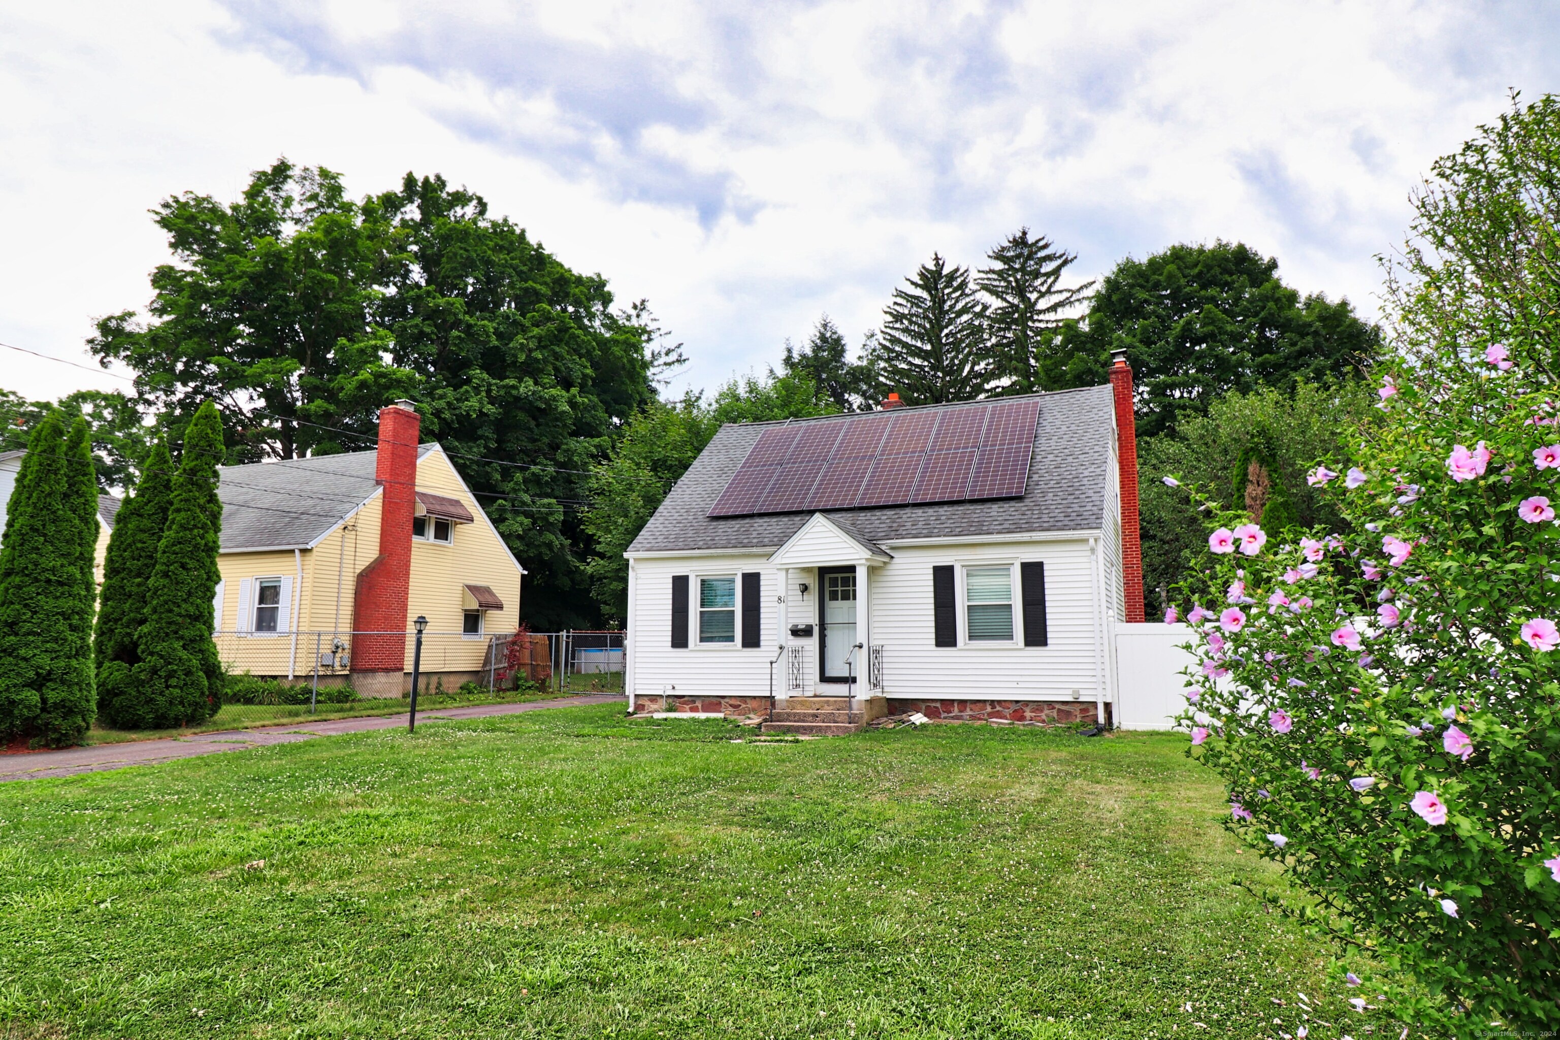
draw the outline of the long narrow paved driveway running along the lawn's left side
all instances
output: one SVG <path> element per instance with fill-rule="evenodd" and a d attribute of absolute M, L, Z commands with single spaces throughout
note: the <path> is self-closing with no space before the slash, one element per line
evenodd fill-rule
<path fill-rule="evenodd" d="M 622 697 L 612 694 L 582 694 L 579 697 L 558 697 L 557 700 L 532 700 L 523 705 L 434 708 L 431 711 L 418 711 L 417 722 L 421 725 L 423 722 L 437 722 L 440 719 L 485 719 L 488 716 L 513 716 L 523 711 L 543 711 L 548 708 L 604 705 L 613 700 L 622 700 Z M 165 762 L 175 758 L 193 758 L 195 755 L 242 752 L 250 747 L 265 747 L 268 744 L 293 744 L 296 741 L 312 741 L 320 736 L 335 736 L 339 733 L 393 730 L 406 725 L 406 716 L 407 713 L 402 711 L 396 716 L 374 716 L 368 719 L 290 722 L 287 725 L 262 727 L 257 730 L 225 730 L 220 733 L 198 733 L 193 736 L 165 738 L 161 741 L 133 741 L 129 744 L 70 747 L 62 752 L 0 755 L 0 780 L 73 776 L 76 773 L 95 773 L 105 769 L 123 769 L 126 766 Z"/>

